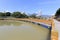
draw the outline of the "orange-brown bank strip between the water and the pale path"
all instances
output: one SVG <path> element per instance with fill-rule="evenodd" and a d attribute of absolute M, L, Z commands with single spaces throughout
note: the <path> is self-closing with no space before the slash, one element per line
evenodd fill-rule
<path fill-rule="evenodd" d="M 58 31 L 55 29 L 56 27 L 54 20 L 52 20 L 51 40 L 58 40 Z"/>

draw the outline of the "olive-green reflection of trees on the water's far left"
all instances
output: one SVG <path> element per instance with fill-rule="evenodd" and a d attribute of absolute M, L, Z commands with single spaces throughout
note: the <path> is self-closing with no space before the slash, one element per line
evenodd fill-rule
<path fill-rule="evenodd" d="M 11 20 L 0 20 L 0 26 L 4 26 L 4 25 L 8 25 L 8 26 L 11 26 L 11 25 L 14 25 L 14 26 L 19 26 L 19 25 L 21 25 L 22 24 L 22 22 L 20 22 L 20 21 L 11 21 Z"/>

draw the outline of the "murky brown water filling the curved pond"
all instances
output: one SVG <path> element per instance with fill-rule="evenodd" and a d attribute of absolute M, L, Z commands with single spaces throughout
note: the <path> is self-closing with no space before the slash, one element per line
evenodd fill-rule
<path fill-rule="evenodd" d="M 47 28 L 22 21 L 0 21 L 0 40 L 47 40 Z"/>

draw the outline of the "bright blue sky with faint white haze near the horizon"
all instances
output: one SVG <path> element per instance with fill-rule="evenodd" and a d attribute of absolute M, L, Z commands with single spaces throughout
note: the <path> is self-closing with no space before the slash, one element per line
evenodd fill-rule
<path fill-rule="evenodd" d="M 27 14 L 54 15 L 60 0 L 0 0 L 0 12 L 20 11 Z"/>

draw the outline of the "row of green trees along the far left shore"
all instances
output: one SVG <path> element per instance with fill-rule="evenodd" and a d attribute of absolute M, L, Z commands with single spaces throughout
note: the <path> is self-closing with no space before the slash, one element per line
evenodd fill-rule
<path fill-rule="evenodd" d="M 0 12 L 0 17 L 15 17 L 15 18 L 36 18 L 35 14 L 32 15 L 27 15 L 26 13 L 21 13 L 21 12 Z"/>

